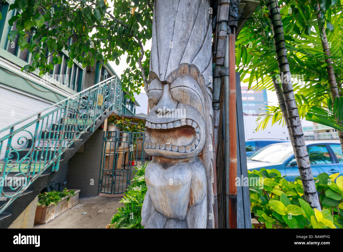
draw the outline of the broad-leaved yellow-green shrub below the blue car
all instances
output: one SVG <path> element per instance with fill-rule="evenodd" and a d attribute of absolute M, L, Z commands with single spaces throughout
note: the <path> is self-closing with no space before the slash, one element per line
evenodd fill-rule
<path fill-rule="evenodd" d="M 343 228 L 343 176 L 339 173 L 321 173 L 315 179 L 321 211 L 304 200 L 300 177 L 288 182 L 280 171 L 264 168 L 248 173 L 251 212 L 267 228 Z M 261 183 L 252 186 L 256 181 Z"/>

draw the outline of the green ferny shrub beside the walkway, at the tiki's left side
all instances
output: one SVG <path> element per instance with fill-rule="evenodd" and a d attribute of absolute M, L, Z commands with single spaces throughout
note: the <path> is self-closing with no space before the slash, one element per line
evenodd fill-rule
<path fill-rule="evenodd" d="M 124 206 L 118 207 L 117 213 L 111 220 L 110 228 L 143 228 L 141 226 L 141 210 L 146 184 L 144 180 L 145 165 L 137 166 L 133 179 L 125 196 L 120 201 Z"/>

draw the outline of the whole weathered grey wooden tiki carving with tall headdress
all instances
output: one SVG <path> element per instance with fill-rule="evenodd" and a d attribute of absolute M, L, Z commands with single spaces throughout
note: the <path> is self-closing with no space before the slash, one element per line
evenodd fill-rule
<path fill-rule="evenodd" d="M 209 0 L 155 0 L 145 228 L 214 228 Z"/>

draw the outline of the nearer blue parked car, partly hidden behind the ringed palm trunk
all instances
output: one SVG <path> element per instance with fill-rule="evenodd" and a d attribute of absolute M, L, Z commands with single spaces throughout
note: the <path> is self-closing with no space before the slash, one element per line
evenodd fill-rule
<path fill-rule="evenodd" d="M 313 176 L 320 173 L 343 175 L 343 154 L 337 141 L 305 141 Z M 248 156 L 248 170 L 276 169 L 286 180 L 294 181 L 299 176 L 297 162 L 290 142 L 268 145 Z"/>

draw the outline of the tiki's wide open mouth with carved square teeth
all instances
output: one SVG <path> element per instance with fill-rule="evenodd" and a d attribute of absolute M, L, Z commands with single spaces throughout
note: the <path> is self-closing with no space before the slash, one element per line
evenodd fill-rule
<path fill-rule="evenodd" d="M 163 124 L 147 121 L 145 128 L 144 148 L 147 149 L 189 153 L 198 146 L 200 141 L 199 126 L 191 119 Z"/>

